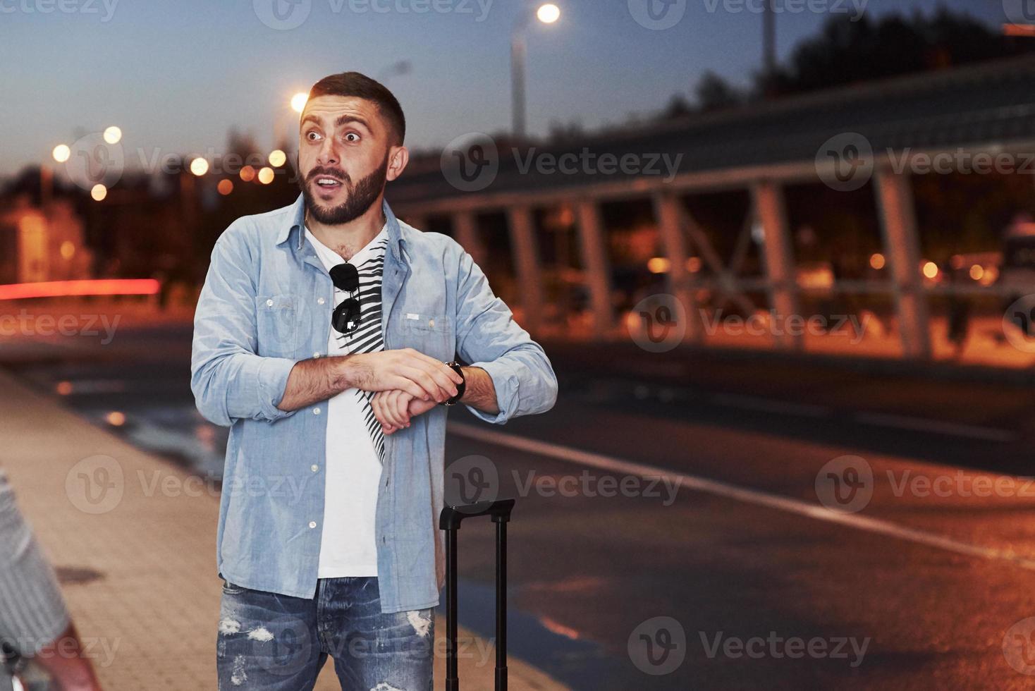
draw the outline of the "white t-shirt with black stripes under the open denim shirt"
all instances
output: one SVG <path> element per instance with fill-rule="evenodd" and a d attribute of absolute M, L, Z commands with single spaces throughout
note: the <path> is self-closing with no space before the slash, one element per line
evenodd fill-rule
<path fill-rule="evenodd" d="M 328 271 L 345 263 L 308 229 L 305 229 L 305 239 L 313 243 L 317 257 Z M 327 339 L 328 356 L 384 350 L 381 276 L 387 244 L 385 227 L 349 260 L 359 273 L 359 326 L 348 336 L 332 326 Z M 334 304 L 328 308 L 333 309 L 350 297 L 356 294 L 335 288 Z M 373 394 L 359 389 L 346 389 L 327 401 L 326 490 L 318 578 L 378 575 L 374 521 L 384 437 L 380 423 L 374 419 L 371 397 Z"/>

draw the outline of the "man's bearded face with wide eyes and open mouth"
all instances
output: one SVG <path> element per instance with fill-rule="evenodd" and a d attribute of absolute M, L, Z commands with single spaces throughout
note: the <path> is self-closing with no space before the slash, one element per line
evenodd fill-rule
<path fill-rule="evenodd" d="M 397 172 L 397 147 L 376 103 L 353 96 L 319 96 L 305 104 L 298 144 L 299 185 L 309 215 L 347 223 L 366 213 Z M 394 167 L 392 167 L 394 169 Z"/>

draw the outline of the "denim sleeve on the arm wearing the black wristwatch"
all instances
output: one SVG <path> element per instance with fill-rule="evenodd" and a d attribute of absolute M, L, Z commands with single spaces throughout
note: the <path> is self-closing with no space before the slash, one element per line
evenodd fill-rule
<path fill-rule="evenodd" d="M 460 245 L 456 245 L 460 247 Z M 513 417 L 545 413 L 557 400 L 557 375 L 539 343 L 496 297 L 471 254 L 460 250 L 456 288 L 456 353 L 493 380 L 500 412 L 471 405 L 476 417 L 503 424 Z"/>

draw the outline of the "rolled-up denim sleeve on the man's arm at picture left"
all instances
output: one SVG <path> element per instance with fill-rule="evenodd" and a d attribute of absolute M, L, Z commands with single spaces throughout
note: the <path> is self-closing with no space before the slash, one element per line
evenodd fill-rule
<path fill-rule="evenodd" d="M 254 264 L 242 236 L 231 226 L 212 249 L 190 355 L 198 411 L 225 427 L 237 419 L 273 422 L 294 414 L 276 405 L 295 360 L 257 354 Z"/>

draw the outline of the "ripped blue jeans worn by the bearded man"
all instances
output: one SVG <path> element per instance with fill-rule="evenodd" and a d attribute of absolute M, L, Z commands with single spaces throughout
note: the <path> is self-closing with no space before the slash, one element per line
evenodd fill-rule
<path fill-rule="evenodd" d="M 225 583 L 219 691 L 313 689 L 329 655 L 346 691 L 432 691 L 432 609 L 381 613 L 376 577 L 322 578 L 314 599 Z"/>

